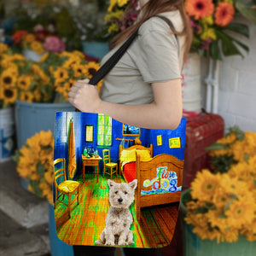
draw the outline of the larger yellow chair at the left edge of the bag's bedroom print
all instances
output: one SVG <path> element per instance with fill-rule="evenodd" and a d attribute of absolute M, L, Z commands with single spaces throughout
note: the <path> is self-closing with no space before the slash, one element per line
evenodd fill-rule
<path fill-rule="evenodd" d="M 62 165 L 61 165 L 61 168 L 57 169 L 57 167 L 55 165 L 57 165 L 58 163 L 62 163 Z M 61 194 L 63 194 L 63 197 L 62 197 L 62 201 L 60 201 L 60 202 L 62 204 L 64 204 L 65 206 L 67 206 L 68 217 L 70 218 L 71 195 L 74 194 L 77 196 L 77 201 L 78 201 L 78 205 L 79 205 L 80 183 L 77 181 L 73 181 L 73 180 L 67 180 L 65 158 L 59 158 L 59 159 L 54 160 L 54 166 L 56 167 L 55 169 L 57 169 L 57 170 L 55 170 L 55 207 L 56 207 L 57 201 L 60 201 L 60 200 L 58 200 L 58 198 L 61 195 L 58 195 L 58 192 L 61 192 Z M 61 176 L 62 176 L 62 178 L 61 178 Z M 61 179 L 60 184 L 57 183 L 59 178 Z M 63 202 L 65 195 L 68 196 L 68 204 Z"/>

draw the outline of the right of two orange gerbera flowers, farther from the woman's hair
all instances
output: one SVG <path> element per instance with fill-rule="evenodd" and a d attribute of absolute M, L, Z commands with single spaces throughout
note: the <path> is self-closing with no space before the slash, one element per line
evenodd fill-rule
<path fill-rule="evenodd" d="M 214 15 L 215 24 L 218 26 L 227 26 L 233 20 L 235 8 L 231 3 L 219 2 Z"/>

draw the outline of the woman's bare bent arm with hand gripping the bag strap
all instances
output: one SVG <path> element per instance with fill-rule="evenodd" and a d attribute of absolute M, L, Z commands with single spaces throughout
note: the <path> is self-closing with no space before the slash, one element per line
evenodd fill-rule
<path fill-rule="evenodd" d="M 154 102 L 143 105 L 125 105 L 104 102 L 96 86 L 89 80 L 80 80 L 68 93 L 68 101 L 82 112 L 105 113 L 127 125 L 148 129 L 174 130 L 182 118 L 182 87 L 180 79 L 153 83 Z"/>

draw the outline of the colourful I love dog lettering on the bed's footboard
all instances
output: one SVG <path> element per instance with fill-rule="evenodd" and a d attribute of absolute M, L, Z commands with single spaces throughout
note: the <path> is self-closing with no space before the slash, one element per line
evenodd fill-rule
<path fill-rule="evenodd" d="M 172 171 L 168 172 L 166 166 L 158 167 L 156 168 L 156 177 L 152 180 L 144 180 L 143 186 L 145 188 L 151 186 L 153 190 L 164 189 L 175 192 L 177 190 L 177 174 Z"/>

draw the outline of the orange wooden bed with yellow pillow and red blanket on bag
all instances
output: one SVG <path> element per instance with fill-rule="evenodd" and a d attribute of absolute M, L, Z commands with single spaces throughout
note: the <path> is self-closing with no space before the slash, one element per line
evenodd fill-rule
<path fill-rule="evenodd" d="M 183 160 L 172 154 L 153 157 L 153 146 L 119 147 L 119 172 L 129 183 L 137 178 L 135 207 L 137 220 L 142 207 L 151 207 L 180 200 L 183 183 Z"/>

